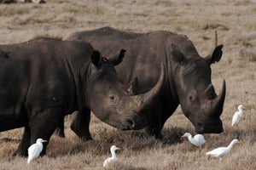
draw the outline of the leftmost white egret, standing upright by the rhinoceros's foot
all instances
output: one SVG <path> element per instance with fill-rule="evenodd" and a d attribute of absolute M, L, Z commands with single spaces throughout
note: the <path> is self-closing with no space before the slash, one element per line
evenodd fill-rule
<path fill-rule="evenodd" d="M 36 144 L 32 144 L 28 150 L 27 163 L 30 163 L 33 159 L 36 159 L 43 150 L 43 142 L 47 142 L 44 139 L 37 139 Z"/>

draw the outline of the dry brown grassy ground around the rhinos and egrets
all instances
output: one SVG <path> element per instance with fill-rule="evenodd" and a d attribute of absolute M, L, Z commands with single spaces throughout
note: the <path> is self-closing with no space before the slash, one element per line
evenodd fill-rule
<path fill-rule="evenodd" d="M 201 56 L 218 43 L 224 44 L 223 58 L 212 65 L 212 82 L 217 93 L 223 79 L 227 94 L 224 133 L 207 134 L 207 144 L 199 150 L 181 140 L 194 127 L 178 109 L 163 128 L 161 141 L 143 130 L 122 132 L 92 117 L 90 132 L 94 140 L 82 142 L 66 122 L 66 139 L 55 135 L 49 141 L 47 156 L 26 165 L 26 158 L 12 157 L 22 129 L 1 132 L 0 169 L 102 169 L 109 147 L 116 144 L 119 161 L 110 169 L 256 169 L 256 1 L 253 0 L 141 0 L 88 1 L 48 0 L 45 4 L 0 5 L 0 43 L 24 42 L 34 37 L 65 37 L 69 32 L 113 26 L 125 31 L 166 30 L 185 34 Z M 11 72 L 9 73 L 11 74 Z M 231 127 L 237 105 L 246 107 L 239 127 Z M 223 161 L 209 159 L 208 150 L 227 145 L 238 138 Z"/>

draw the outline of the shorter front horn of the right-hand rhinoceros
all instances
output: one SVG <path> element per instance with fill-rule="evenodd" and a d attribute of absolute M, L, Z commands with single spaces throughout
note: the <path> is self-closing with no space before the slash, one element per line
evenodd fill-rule
<path fill-rule="evenodd" d="M 216 98 L 216 103 L 213 105 L 212 116 L 220 116 L 223 111 L 224 100 L 226 96 L 226 82 L 223 81 L 221 93 Z"/>

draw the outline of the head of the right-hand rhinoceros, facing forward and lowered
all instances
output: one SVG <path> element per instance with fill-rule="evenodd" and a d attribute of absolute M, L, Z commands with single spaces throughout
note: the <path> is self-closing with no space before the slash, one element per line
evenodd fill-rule
<path fill-rule="evenodd" d="M 186 57 L 177 46 L 172 45 L 172 56 L 177 63 L 175 78 L 178 100 L 197 133 L 223 132 L 219 116 L 224 106 L 225 82 L 222 92 L 217 95 L 212 86 L 210 67 L 221 58 L 222 48 L 219 45 L 212 54 L 201 58 L 199 55 Z"/>

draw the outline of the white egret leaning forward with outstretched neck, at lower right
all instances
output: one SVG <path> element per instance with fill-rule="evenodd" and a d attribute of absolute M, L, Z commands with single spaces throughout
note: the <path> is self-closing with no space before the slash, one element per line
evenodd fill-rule
<path fill-rule="evenodd" d="M 223 156 L 227 155 L 236 143 L 239 143 L 239 140 L 233 139 L 227 147 L 218 147 L 214 150 L 208 151 L 206 156 L 218 157 L 219 161 L 221 161 Z"/>

